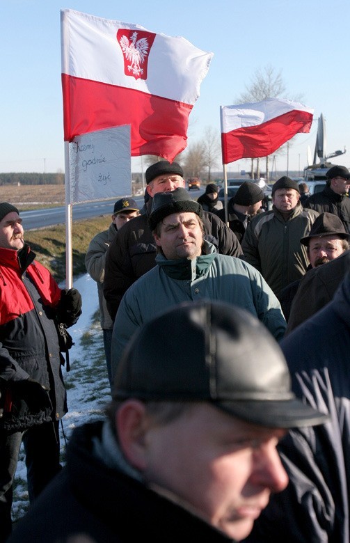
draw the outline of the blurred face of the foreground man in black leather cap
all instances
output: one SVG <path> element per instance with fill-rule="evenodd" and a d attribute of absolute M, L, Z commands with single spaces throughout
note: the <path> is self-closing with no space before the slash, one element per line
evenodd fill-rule
<path fill-rule="evenodd" d="M 285 430 L 245 423 L 201 403 L 147 432 L 146 482 L 173 492 L 235 540 L 246 537 L 287 473 L 276 445 Z"/>

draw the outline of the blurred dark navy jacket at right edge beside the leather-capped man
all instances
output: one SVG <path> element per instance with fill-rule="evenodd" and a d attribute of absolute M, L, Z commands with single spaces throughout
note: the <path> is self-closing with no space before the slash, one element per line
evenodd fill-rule
<path fill-rule="evenodd" d="M 285 337 L 280 347 L 294 392 L 328 414 L 329 421 L 293 430 L 281 441 L 289 485 L 271 496 L 247 541 L 349 543 L 350 274 L 333 301 Z"/>

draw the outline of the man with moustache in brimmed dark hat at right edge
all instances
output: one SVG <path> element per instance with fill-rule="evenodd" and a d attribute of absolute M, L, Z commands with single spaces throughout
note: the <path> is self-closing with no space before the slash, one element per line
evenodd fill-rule
<path fill-rule="evenodd" d="M 344 251 L 349 249 L 350 234 L 344 228 L 344 224 L 333 213 L 321 213 L 313 223 L 308 236 L 302 237 L 300 242 L 306 246 L 310 265 L 307 271 L 317 266 L 327 264 Z M 289 322 L 292 302 L 299 289 L 301 279 L 289 283 L 278 294 L 285 320 Z"/>

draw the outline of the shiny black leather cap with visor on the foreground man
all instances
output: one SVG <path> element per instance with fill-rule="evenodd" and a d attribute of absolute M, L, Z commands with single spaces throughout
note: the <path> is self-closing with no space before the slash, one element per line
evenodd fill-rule
<path fill-rule="evenodd" d="M 209 402 L 266 427 L 327 420 L 295 397 L 283 352 L 265 326 L 246 310 L 209 300 L 175 306 L 134 334 L 113 398 Z"/>

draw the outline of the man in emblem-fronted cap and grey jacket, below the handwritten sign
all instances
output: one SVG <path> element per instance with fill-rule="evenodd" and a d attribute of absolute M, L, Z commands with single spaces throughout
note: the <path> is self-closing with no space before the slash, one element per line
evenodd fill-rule
<path fill-rule="evenodd" d="M 88 274 L 97 283 L 98 300 L 100 306 L 100 322 L 103 331 L 104 356 L 106 358 L 109 384 L 112 386 L 111 374 L 111 341 L 113 331 L 113 320 L 109 315 L 106 300 L 103 295 L 104 267 L 106 264 L 106 252 L 111 242 L 116 237 L 117 231 L 128 221 L 138 217 L 140 214 L 138 205 L 132 198 L 120 198 L 114 204 L 112 222 L 107 230 L 95 235 L 90 241 L 86 251 L 85 265 Z"/>

